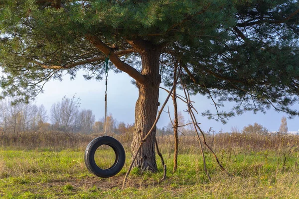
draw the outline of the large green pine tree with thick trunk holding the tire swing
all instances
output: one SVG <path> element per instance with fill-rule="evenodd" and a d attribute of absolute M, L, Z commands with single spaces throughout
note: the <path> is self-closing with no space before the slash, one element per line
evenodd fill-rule
<path fill-rule="evenodd" d="M 133 153 L 155 120 L 160 83 L 172 84 L 173 63 L 191 93 L 215 98 L 217 108 L 236 102 L 208 118 L 271 106 L 296 115 L 298 24 L 294 0 L 0 0 L 1 96 L 32 100 L 43 83 L 78 70 L 101 80 L 109 56 L 110 70 L 130 75 L 140 93 Z M 142 170 L 157 170 L 154 136 L 136 159 Z"/>

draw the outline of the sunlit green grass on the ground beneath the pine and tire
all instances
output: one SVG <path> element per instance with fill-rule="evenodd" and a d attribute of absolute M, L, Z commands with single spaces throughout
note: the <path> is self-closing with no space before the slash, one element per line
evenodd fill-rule
<path fill-rule="evenodd" d="M 103 154 L 105 154 L 103 156 Z M 109 160 L 113 153 L 100 154 Z M 125 190 L 121 189 L 130 164 L 115 177 L 101 179 L 90 174 L 83 150 L 0 150 L 0 198 L 3 199 L 97 199 L 97 198 L 299 198 L 298 152 L 217 152 L 225 168 L 221 172 L 213 156 L 206 153 L 212 181 L 203 171 L 201 155 L 179 154 L 178 170 L 172 174 L 173 154 L 164 153 L 167 179 L 159 172 L 140 174 L 133 169 Z M 105 159 L 106 158 L 106 159 Z"/>

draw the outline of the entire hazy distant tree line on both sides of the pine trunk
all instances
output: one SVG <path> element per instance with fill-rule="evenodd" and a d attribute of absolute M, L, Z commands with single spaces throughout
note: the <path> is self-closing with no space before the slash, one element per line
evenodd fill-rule
<path fill-rule="evenodd" d="M 11 100 L 0 101 L 0 131 L 5 133 L 16 133 L 24 131 L 62 131 L 73 133 L 103 133 L 104 117 L 100 120 L 95 119 L 95 115 L 90 109 L 80 109 L 80 99 L 63 97 L 61 101 L 52 104 L 50 113 L 47 113 L 44 105 L 39 106 L 32 103 L 12 104 Z M 173 119 L 171 119 L 173 120 Z M 282 117 L 279 133 L 288 132 L 287 118 Z M 178 112 L 178 132 L 181 135 L 191 135 L 193 129 L 185 122 L 184 116 Z M 211 128 L 210 128 L 211 130 Z M 208 134 L 210 134 L 207 132 Z M 112 114 L 107 116 L 107 132 L 122 134 L 134 131 L 134 124 L 125 124 L 118 122 Z M 240 132 L 236 127 L 232 132 Z M 267 135 L 269 130 L 261 124 L 254 123 L 245 126 L 242 133 Z M 169 122 L 167 126 L 157 128 L 157 135 L 173 134 L 173 123 Z"/>

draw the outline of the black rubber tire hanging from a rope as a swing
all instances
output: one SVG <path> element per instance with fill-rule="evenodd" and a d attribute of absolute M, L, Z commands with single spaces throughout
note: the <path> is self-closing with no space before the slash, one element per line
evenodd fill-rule
<path fill-rule="evenodd" d="M 115 162 L 109 169 L 101 169 L 95 162 L 95 152 L 101 145 L 108 145 L 115 152 Z M 110 136 L 101 136 L 93 139 L 86 147 L 84 155 L 87 169 L 101 178 L 109 178 L 118 174 L 124 167 L 126 153 L 122 144 Z"/>

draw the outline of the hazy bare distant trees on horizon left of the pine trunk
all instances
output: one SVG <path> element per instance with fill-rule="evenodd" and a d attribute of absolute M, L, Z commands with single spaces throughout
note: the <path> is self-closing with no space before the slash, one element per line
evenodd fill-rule
<path fill-rule="evenodd" d="M 52 104 L 48 114 L 44 105 L 32 103 L 12 104 L 0 101 L 0 131 L 16 133 L 23 131 L 62 131 L 74 133 L 102 133 L 104 117 L 98 121 L 90 109 L 80 109 L 80 99 L 64 97 Z M 107 116 L 107 132 L 116 134 L 133 132 L 133 124 L 118 122 L 111 114 Z"/>

